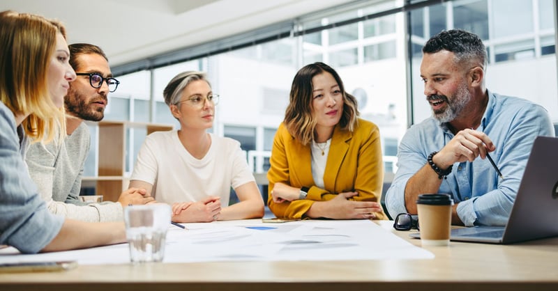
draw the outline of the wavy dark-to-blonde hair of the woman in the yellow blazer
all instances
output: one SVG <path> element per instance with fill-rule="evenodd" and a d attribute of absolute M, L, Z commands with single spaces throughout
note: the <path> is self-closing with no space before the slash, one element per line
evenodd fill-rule
<path fill-rule="evenodd" d="M 285 120 L 283 120 L 289 134 L 304 146 L 314 140 L 316 128 L 316 120 L 312 117 L 312 78 L 324 72 L 329 72 L 333 76 L 343 94 L 343 113 L 339 120 L 341 129 L 352 132 L 358 122 L 359 110 L 356 108 L 356 98 L 345 92 L 339 74 L 325 63 L 317 62 L 306 65 L 296 72 L 292 80 L 289 105 L 285 111 Z"/>

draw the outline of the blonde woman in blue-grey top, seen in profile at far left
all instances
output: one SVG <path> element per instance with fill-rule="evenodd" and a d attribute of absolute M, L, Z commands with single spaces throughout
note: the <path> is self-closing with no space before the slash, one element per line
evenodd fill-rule
<path fill-rule="evenodd" d="M 86 223 L 51 214 L 29 177 L 30 140 L 64 131 L 61 107 L 75 72 L 66 31 L 38 15 L 0 13 L 0 244 L 22 253 L 126 241 L 124 223 Z"/>

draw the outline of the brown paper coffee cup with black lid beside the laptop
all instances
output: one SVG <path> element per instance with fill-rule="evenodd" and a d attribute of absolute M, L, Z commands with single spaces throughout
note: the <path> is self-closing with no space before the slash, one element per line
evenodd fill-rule
<path fill-rule="evenodd" d="M 423 246 L 447 246 L 451 233 L 451 205 L 448 194 L 418 195 L 418 228 Z"/>

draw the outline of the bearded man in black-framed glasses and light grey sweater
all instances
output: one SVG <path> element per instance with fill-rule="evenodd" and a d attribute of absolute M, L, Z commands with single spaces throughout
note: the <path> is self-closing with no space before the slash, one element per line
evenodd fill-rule
<path fill-rule="evenodd" d="M 81 221 L 122 221 L 123 207 L 153 201 L 144 189 L 123 191 L 118 203 L 84 203 L 79 200 L 90 134 L 84 120 L 104 117 L 107 95 L 116 91 L 119 81 L 112 78 L 107 56 L 100 47 L 69 45 L 70 65 L 77 78 L 64 97 L 66 137 L 63 142 L 33 143 L 27 151 L 29 174 L 47 201 L 49 210 L 68 219 Z M 101 155 L 103 153 L 100 153 Z"/>

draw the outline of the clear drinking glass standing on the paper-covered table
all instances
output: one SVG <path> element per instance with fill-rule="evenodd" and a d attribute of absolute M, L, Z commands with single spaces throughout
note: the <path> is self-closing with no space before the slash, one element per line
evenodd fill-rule
<path fill-rule="evenodd" d="M 161 262 L 165 257 L 171 209 L 167 204 L 130 205 L 124 210 L 131 262 Z"/>

